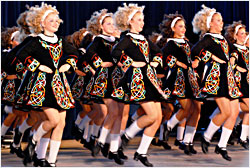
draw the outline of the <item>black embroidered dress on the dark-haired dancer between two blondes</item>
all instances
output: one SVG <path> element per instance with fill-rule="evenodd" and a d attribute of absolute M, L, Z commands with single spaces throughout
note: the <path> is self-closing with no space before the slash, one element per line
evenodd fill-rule
<path fill-rule="evenodd" d="M 167 66 L 163 90 L 169 99 L 201 98 L 200 87 L 192 68 L 190 43 L 184 39 L 169 38 L 162 48 L 164 66 Z M 187 66 L 184 69 L 176 64 L 179 61 Z"/>

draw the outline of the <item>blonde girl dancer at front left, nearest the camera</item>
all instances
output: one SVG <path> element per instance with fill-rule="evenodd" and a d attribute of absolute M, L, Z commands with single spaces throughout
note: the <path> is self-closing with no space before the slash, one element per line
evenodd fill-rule
<path fill-rule="evenodd" d="M 64 72 L 71 67 L 75 70 L 78 53 L 64 39 L 55 35 L 62 22 L 55 7 L 42 3 L 40 9 L 34 12 L 30 26 L 39 34 L 19 51 L 18 57 L 29 71 L 36 73 L 27 105 L 42 107 L 48 119 L 29 138 L 24 151 L 24 164 L 31 162 L 37 141 L 54 128 L 48 162 L 55 166 L 65 126 L 66 109 L 74 108 Z"/>

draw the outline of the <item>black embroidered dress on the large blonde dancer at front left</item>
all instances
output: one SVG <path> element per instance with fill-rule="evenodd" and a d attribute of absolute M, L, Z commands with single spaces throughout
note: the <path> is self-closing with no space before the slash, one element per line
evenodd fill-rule
<path fill-rule="evenodd" d="M 26 68 L 35 74 L 33 80 L 29 81 L 31 90 L 27 105 L 58 110 L 74 107 L 66 75 L 59 72 L 59 68 L 66 63 L 75 70 L 78 52 L 73 46 L 56 35 L 49 37 L 39 34 L 27 43 L 17 56 Z M 46 65 L 53 73 L 40 71 L 40 65 Z"/>

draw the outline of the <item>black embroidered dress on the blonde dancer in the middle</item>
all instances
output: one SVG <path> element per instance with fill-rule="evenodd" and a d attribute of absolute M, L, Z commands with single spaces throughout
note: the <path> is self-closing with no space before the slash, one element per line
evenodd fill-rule
<path fill-rule="evenodd" d="M 114 99 L 136 103 L 160 101 L 166 97 L 158 84 L 155 69 L 150 66 L 152 61 L 159 62 L 159 66 L 162 66 L 161 50 L 155 44 L 143 35 L 127 33 L 115 46 L 112 56 L 127 66 L 133 61 L 146 63 L 140 68 L 129 66 L 112 93 Z"/>

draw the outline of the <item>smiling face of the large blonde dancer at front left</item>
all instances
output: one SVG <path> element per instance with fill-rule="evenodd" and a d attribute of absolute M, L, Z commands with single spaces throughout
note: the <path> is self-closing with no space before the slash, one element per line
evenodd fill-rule
<path fill-rule="evenodd" d="M 55 33 L 60 26 L 59 16 L 54 13 L 49 14 L 42 22 L 42 26 L 45 34 L 50 35 L 51 33 Z"/>

